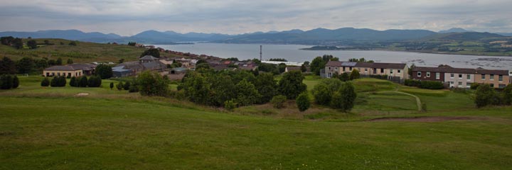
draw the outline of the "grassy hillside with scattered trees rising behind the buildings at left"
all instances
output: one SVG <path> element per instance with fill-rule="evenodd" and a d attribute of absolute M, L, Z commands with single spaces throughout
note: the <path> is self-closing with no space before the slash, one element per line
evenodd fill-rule
<path fill-rule="evenodd" d="M 62 57 L 63 60 L 68 58 L 74 62 L 114 62 L 124 59 L 125 61 L 137 60 L 144 52 L 143 47 L 133 47 L 129 45 L 102 44 L 95 42 L 78 42 L 76 46 L 68 45 L 70 40 L 36 38 L 38 43 L 43 44 L 44 40 L 48 40 L 53 45 L 40 45 L 36 49 L 24 48 L 16 50 L 14 47 L 0 45 L 0 56 L 10 57 L 13 60 L 19 60 L 22 57 L 42 58 L 56 60 Z M 26 42 L 26 39 L 23 39 Z M 60 44 L 63 42 L 63 45 Z M 174 57 L 175 55 L 162 52 L 161 56 Z"/>

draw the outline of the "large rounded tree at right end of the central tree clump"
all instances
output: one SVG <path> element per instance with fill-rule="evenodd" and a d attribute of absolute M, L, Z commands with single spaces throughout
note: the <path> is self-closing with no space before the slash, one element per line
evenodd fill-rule
<path fill-rule="evenodd" d="M 280 94 L 287 96 L 288 99 L 294 99 L 302 92 L 306 91 L 306 84 L 302 83 L 304 75 L 299 71 L 284 73 L 282 79 L 279 80 L 278 91 Z"/>

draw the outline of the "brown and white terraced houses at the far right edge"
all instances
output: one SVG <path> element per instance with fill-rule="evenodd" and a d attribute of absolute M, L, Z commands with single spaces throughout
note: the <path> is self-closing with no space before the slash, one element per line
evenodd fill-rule
<path fill-rule="evenodd" d="M 412 79 L 441 81 L 450 88 L 469 88 L 471 84 L 489 84 L 494 88 L 505 88 L 512 83 L 508 70 L 454 68 L 449 65 L 439 67 L 413 67 Z"/>

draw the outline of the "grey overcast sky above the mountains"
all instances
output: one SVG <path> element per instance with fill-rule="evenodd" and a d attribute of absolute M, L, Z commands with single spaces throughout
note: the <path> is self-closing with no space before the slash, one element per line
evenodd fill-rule
<path fill-rule="evenodd" d="M 250 33 L 314 28 L 512 32 L 512 1 L 375 0 L 0 0 L 0 31 L 78 29 L 134 35 Z"/>

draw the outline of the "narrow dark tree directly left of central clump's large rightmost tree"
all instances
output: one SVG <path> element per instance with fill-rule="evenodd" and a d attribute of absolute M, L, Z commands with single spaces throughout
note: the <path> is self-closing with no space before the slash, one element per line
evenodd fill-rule
<path fill-rule="evenodd" d="M 262 95 L 260 103 L 267 103 L 277 95 L 277 81 L 271 73 L 258 74 L 254 85 Z"/>

